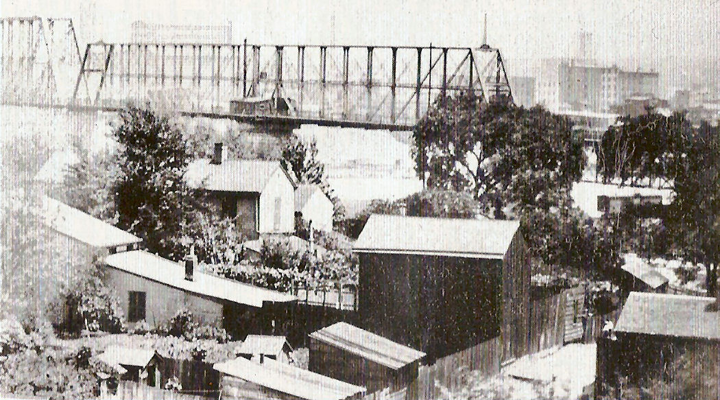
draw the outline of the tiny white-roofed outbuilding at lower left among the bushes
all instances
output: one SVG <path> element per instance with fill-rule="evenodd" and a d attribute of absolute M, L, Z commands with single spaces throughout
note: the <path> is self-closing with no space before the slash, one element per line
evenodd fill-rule
<path fill-rule="evenodd" d="M 155 350 L 109 346 L 97 358 L 117 371 L 125 371 L 120 376 L 123 381 L 160 387 L 161 357 Z"/>

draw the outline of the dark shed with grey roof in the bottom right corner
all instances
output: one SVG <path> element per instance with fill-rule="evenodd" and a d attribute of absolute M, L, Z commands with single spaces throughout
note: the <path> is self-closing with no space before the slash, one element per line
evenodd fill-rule
<path fill-rule="evenodd" d="M 681 356 L 720 393 L 720 297 L 630 293 L 614 332 L 598 340 L 597 391 L 672 378 Z"/>

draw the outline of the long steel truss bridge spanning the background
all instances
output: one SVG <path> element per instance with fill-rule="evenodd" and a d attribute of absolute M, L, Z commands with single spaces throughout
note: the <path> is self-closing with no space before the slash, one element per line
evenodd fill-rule
<path fill-rule="evenodd" d="M 500 50 L 487 45 L 98 42 L 81 51 L 71 19 L 1 26 L 6 105 L 150 102 L 191 116 L 406 130 L 440 94 L 512 99 Z"/>

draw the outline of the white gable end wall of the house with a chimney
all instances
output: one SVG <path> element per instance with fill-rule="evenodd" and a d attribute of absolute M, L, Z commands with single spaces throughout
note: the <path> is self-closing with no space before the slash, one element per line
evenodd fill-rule
<path fill-rule="evenodd" d="M 280 199 L 279 223 L 275 224 L 276 199 Z M 282 169 L 277 169 L 260 194 L 261 234 L 291 233 L 295 230 L 295 192 Z"/>

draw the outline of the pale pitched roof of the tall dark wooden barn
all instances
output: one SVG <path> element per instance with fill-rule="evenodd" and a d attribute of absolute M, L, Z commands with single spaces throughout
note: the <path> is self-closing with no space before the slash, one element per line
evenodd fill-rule
<path fill-rule="evenodd" d="M 353 249 L 501 259 L 519 227 L 518 221 L 374 214 Z"/>

